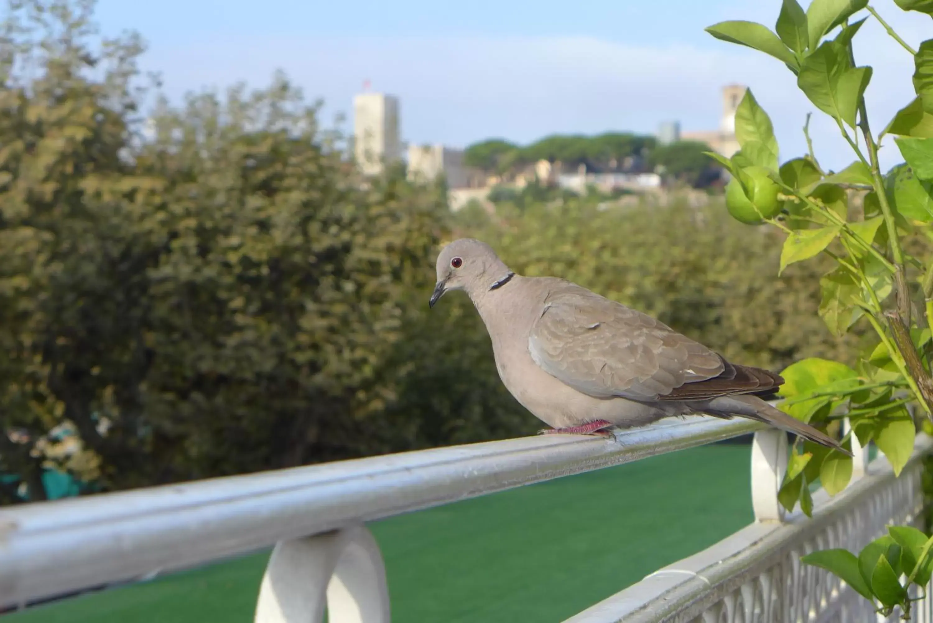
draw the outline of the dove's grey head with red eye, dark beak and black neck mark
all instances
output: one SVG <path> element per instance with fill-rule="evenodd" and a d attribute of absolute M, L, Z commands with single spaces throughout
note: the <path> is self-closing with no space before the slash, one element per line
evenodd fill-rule
<path fill-rule="evenodd" d="M 482 292 L 501 288 L 515 276 L 492 247 L 472 238 L 454 240 L 442 248 L 437 270 L 438 284 L 428 303 L 431 307 L 447 290 L 464 290 L 475 301 Z"/>

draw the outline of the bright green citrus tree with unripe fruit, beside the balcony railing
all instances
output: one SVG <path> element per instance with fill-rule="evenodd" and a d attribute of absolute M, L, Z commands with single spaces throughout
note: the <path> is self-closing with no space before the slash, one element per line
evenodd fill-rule
<path fill-rule="evenodd" d="M 929 2 L 896 4 L 933 16 Z M 865 7 L 864 2 L 815 0 L 804 12 L 795 0 L 785 0 L 776 34 L 749 21 L 724 21 L 706 29 L 778 58 L 801 92 L 835 121 L 852 148 L 853 163 L 827 172 L 812 147 L 780 163 L 772 122 L 751 91 L 735 113 L 740 151 L 730 159 L 714 157 L 732 175 L 726 191 L 730 213 L 743 222 L 770 223 L 786 234 L 780 270 L 817 258 L 832 260 L 820 279 L 819 312 L 829 331 L 866 333 L 855 365 L 808 359 L 788 366 L 782 373 L 787 384 L 781 408 L 822 427 L 847 416 L 851 430 L 843 444 L 854 439 L 861 446 L 874 443 L 899 474 L 911 457 L 917 428 L 933 430 L 933 39 L 913 50 L 873 7 L 868 7 L 870 16 L 851 21 Z M 916 70 L 915 98 L 878 134 L 872 132 L 865 100 L 872 68 L 855 63 L 859 28 L 870 17 L 912 56 Z M 809 117 L 803 131 L 812 146 L 808 126 Z M 896 136 L 905 160 L 886 175 L 878 157 L 885 135 Z M 853 189 L 860 191 L 861 205 L 850 205 Z M 911 405 L 921 421 L 914 419 Z M 835 495 L 848 486 L 852 472 L 852 458 L 838 450 L 796 444 L 778 498 L 788 510 L 800 504 L 810 515 L 810 483 L 818 478 Z M 883 617 L 899 609 L 907 620 L 912 585 L 924 591 L 933 572 L 931 550 L 933 537 L 925 532 L 892 526 L 857 557 L 833 549 L 802 561 L 838 575 Z"/>

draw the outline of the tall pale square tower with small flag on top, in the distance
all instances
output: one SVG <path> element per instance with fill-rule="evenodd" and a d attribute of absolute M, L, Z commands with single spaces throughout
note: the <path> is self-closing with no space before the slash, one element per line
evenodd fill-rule
<path fill-rule="evenodd" d="M 398 98 L 384 93 L 354 97 L 354 154 L 365 175 L 379 175 L 386 164 L 401 159 Z"/>

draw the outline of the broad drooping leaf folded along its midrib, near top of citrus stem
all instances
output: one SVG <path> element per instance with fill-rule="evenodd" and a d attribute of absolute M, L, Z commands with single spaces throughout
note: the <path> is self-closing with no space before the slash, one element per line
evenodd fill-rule
<path fill-rule="evenodd" d="M 853 67 L 848 50 L 827 41 L 804 59 L 797 85 L 816 107 L 854 128 L 858 101 L 870 78 L 870 67 Z"/>

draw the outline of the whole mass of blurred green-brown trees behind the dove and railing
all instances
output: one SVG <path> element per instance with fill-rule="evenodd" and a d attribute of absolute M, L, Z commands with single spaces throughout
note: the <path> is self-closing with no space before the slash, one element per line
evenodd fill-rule
<path fill-rule="evenodd" d="M 0 37 L 0 473 L 34 499 L 49 466 L 117 489 L 534 432 L 466 298 L 428 313 L 454 236 L 736 361 L 854 359 L 822 269 L 775 280 L 780 240 L 721 206 L 452 216 L 400 171 L 359 177 L 283 76 L 160 100 L 92 7 L 10 3 Z M 63 424 L 77 454 L 48 449 Z"/>

